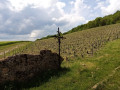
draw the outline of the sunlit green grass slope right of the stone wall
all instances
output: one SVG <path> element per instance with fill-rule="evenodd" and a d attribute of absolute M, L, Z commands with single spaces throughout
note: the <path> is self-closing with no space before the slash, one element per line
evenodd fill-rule
<path fill-rule="evenodd" d="M 37 85 L 38 87 L 30 90 L 87 90 L 101 81 L 103 83 L 98 84 L 97 89 L 118 90 L 120 69 L 109 77 L 118 66 L 120 66 L 120 39 L 109 42 L 94 57 L 63 62 L 62 67 L 68 69 L 66 73 L 53 75 L 46 83 L 42 81 L 40 86 Z M 105 79 L 107 80 L 104 81 Z"/>

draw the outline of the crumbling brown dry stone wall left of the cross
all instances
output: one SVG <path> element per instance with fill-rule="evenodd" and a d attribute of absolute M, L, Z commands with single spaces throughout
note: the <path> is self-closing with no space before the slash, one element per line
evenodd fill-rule
<path fill-rule="evenodd" d="M 40 51 L 40 55 L 21 54 L 0 61 L 0 83 L 5 81 L 25 81 L 49 69 L 59 68 L 59 55 L 50 50 Z M 60 57 L 60 63 L 63 58 Z"/>

